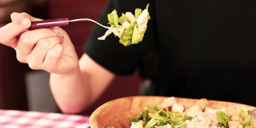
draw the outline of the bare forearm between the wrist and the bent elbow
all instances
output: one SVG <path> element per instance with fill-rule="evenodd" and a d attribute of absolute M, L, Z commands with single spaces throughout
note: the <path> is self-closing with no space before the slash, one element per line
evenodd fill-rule
<path fill-rule="evenodd" d="M 50 75 L 50 88 L 58 107 L 64 113 L 78 113 L 90 104 L 90 86 L 80 70 L 60 75 Z"/>

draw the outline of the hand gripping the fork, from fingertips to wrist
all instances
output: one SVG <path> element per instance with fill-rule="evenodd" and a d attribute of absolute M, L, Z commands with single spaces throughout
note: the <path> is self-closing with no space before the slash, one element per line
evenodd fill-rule
<path fill-rule="evenodd" d="M 27 13 L 12 13 L 12 22 L 0 28 L 0 43 L 13 47 L 17 59 L 34 70 L 67 74 L 79 69 L 78 57 L 67 33 L 60 27 L 28 31 L 31 21 L 40 20 Z"/>

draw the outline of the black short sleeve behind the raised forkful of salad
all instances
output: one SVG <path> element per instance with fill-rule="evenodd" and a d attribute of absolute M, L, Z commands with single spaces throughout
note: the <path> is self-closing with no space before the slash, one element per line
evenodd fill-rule
<path fill-rule="evenodd" d="M 110 0 L 103 11 L 99 22 L 109 26 L 107 15 L 114 9 L 118 16 L 121 13 L 132 12 L 136 8 L 145 9 L 149 0 Z M 150 13 L 149 5 L 149 13 Z M 153 5 L 152 5 L 153 6 Z M 98 40 L 107 31 L 106 28 L 96 25 L 84 46 L 84 52 L 94 61 L 115 74 L 131 74 L 135 71 L 139 61 L 155 46 L 155 31 L 153 20 L 148 21 L 148 27 L 141 42 L 134 45 L 124 46 L 119 43 L 119 37 L 114 34 L 107 36 L 105 40 Z"/>

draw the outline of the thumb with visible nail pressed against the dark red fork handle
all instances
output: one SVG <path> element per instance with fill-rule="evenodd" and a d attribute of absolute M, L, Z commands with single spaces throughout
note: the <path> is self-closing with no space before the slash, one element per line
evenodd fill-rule
<path fill-rule="evenodd" d="M 17 36 L 28 29 L 31 22 L 28 18 L 21 18 L 0 28 L 0 43 L 16 47 Z"/>

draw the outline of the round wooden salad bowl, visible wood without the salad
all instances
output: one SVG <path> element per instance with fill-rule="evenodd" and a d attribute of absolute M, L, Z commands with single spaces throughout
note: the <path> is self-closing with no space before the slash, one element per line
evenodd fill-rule
<path fill-rule="evenodd" d="M 99 108 L 92 112 L 90 116 L 91 128 L 106 128 L 107 126 L 114 126 L 115 128 L 130 128 L 129 117 L 136 117 L 140 112 L 144 110 L 145 106 L 159 105 L 168 97 L 157 96 L 135 96 L 124 97 L 108 101 L 101 105 Z M 195 102 L 199 99 L 187 99 L 177 98 L 177 103 L 190 107 L 195 105 Z M 248 106 L 240 103 L 232 103 L 225 101 L 212 101 L 211 108 L 223 108 L 228 106 L 240 106 L 243 108 L 249 108 L 253 110 L 254 106 Z M 252 124 L 252 128 L 256 128 L 256 122 Z"/>

